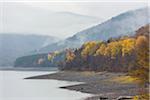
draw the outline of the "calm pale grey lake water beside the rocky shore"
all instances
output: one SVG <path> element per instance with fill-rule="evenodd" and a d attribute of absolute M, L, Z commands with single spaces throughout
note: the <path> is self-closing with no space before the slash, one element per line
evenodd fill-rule
<path fill-rule="evenodd" d="M 58 88 L 79 84 L 76 82 L 23 79 L 49 73 L 54 72 L 0 71 L 0 100 L 83 100 L 91 96 Z"/>

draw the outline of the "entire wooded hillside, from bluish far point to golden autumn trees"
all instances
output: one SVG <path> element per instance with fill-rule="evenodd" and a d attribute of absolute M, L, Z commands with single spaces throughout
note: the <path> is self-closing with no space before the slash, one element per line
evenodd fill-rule
<path fill-rule="evenodd" d="M 146 25 L 137 30 L 134 36 L 90 41 L 76 49 L 20 57 L 15 66 L 59 66 L 61 70 L 128 72 L 144 66 L 142 63 L 148 64 L 148 36 L 149 25 Z"/>

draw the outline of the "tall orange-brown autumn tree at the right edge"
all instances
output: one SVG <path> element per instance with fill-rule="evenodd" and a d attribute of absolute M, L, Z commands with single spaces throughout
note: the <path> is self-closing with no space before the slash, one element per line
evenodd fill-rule
<path fill-rule="evenodd" d="M 136 53 L 138 68 L 132 75 L 140 78 L 142 84 L 149 82 L 149 40 L 145 36 L 139 36 L 136 40 Z"/>

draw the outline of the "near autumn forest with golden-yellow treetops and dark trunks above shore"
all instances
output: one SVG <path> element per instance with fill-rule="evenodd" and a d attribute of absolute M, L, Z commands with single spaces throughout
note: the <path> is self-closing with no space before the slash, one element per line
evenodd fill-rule
<path fill-rule="evenodd" d="M 149 25 L 137 30 L 134 36 L 87 42 L 74 51 L 68 50 L 60 69 L 113 72 L 146 69 L 149 62 L 148 41 Z"/>

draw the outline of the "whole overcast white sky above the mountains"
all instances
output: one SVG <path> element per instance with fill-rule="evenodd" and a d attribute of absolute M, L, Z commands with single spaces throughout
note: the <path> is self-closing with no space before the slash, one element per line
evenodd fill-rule
<path fill-rule="evenodd" d="M 118 2 L 120 1 L 120 2 Z M 103 21 L 129 10 L 146 7 L 148 0 L 0 0 L 2 2 L 20 2 L 24 5 L 46 9 L 52 12 L 72 12 L 94 16 Z"/>

